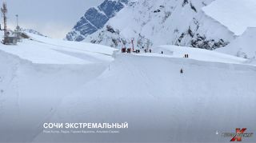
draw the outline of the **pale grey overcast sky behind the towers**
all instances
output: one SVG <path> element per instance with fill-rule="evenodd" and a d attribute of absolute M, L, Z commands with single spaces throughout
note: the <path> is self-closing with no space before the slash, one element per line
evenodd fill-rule
<path fill-rule="evenodd" d="M 65 38 L 79 18 L 91 6 L 98 6 L 103 0 L 5 0 L 8 8 L 8 26 L 19 25 L 38 30 L 52 38 Z M 3 0 L 0 0 L 1 7 Z M 1 17 L 2 23 L 2 17 Z"/>

